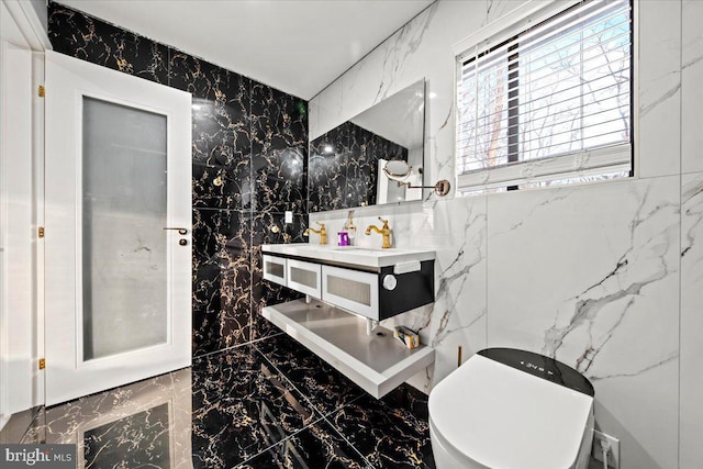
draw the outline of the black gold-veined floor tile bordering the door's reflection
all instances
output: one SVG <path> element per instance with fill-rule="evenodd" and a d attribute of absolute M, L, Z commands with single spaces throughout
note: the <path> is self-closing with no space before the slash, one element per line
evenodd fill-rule
<path fill-rule="evenodd" d="M 231 468 L 317 417 L 250 345 L 193 364 L 193 467 Z"/>

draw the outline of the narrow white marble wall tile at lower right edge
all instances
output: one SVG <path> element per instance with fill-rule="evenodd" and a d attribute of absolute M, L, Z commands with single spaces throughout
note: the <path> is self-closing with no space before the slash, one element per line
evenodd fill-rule
<path fill-rule="evenodd" d="M 703 174 L 681 188 L 681 469 L 703 461 Z"/>

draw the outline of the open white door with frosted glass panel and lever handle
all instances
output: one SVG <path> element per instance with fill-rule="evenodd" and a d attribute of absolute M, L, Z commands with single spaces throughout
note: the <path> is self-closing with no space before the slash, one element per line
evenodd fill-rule
<path fill-rule="evenodd" d="M 191 97 L 47 52 L 45 105 L 52 405 L 191 362 Z"/>

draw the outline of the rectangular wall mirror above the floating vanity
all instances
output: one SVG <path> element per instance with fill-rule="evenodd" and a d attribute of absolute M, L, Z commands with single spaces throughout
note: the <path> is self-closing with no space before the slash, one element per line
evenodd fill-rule
<path fill-rule="evenodd" d="M 425 80 L 372 105 L 310 143 L 310 212 L 422 199 L 422 189 L 399 186 L 383 174 L 392 159 L 413 168 L 411 182 L 423 186 Z"/>

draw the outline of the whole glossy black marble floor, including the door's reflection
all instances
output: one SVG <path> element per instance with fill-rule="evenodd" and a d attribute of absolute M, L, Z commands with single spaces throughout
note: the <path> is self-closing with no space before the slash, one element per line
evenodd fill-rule
<path fill-rule="evenodd" d="M 434 468 L 427 418 L 424 393 L 377 400 L 283 334 L 37 407 L 0 438 L 76 444 L 79 469 Z"/>

